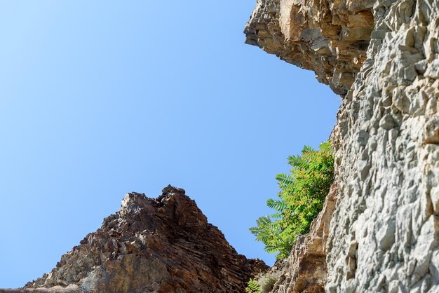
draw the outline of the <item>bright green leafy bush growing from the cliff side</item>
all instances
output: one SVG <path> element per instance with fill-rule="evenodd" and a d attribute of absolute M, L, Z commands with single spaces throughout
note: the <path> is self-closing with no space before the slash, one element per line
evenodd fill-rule
<path fill-rule="evenodd" d="M 276 175 L 280 199 L 266 202 L 276 213 L 259 217 L 257 226 L 250 228 L 266 252 L 278 252 L 278 259 L 288 257 L 297 236 L 309 232 L 334 181 L 330 142 L 320 144 L 320 150 L 305 146 L 302 155 L 288 157 L 288 163 L 291 173 Z"/>

